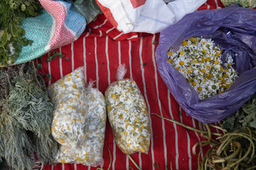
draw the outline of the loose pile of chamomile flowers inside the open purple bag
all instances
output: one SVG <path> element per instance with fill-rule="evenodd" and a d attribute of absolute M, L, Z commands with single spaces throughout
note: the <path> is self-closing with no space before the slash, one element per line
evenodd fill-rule
<path fill-rule="evenodd" d="M 188 38 L 178 51 L 171 48 L 168 55 L 168 62 L 183 74 L 201 100 L 227 91 L 238 78 L 233 58 L 227 55 L 223 64 L 222 51 L 211 39 Z"/>

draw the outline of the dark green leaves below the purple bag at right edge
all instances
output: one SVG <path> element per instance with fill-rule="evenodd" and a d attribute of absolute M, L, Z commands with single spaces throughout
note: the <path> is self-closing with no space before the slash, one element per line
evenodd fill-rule
<path fill-rule="evenodd" d="M 222 123 L 222 128 L 225 128 L 228 132 L 246 127 L 256 130 L 256 94 L 237 112 L 225 118 Z"/>

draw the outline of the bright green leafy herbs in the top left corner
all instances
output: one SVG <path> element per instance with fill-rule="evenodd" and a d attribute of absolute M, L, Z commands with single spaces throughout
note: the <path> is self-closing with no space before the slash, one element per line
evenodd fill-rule
<path fill-rule="evenodd" d="M 0 1 L 0 66 L 13 64 L 21 48 L 32 44 L 21 24 L 24 18 L 38 16 L 42 9 L 38 0 Z"/>

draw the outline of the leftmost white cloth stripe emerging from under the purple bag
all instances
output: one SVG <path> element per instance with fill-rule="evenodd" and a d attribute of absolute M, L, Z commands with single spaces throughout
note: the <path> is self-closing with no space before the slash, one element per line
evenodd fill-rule
<path fill-rule="evenodd" d="M 171 111 L 171 92 L 168 90 L 168 105 L 169 105 L 169 112 L 171 115 L 171 119 L 174 120 L 174 115 L 172 114 Z M 177 126 L 175 123 L 174 124 L 174 131 L 175 131 L 175 151 L 176 151 L 176 157 L 175 157 L 175 164 L 176 164 L 176 169 L 178 169 L 178 131 L 177 131 Z"/>

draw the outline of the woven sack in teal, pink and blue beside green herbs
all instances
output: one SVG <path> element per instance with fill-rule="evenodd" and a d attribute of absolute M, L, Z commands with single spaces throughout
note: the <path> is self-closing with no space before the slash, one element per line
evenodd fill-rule
<path fill-rule="evenodd" d="M 26 18 L 22 28 L 32 45 L 22 48 L 14 64 L 34 60 L 57 47 L 77 40 L 85 30 L 86 21 L 75 11 L 70 1 L 39 0 L 44 10 L 41 16 Z"/>

